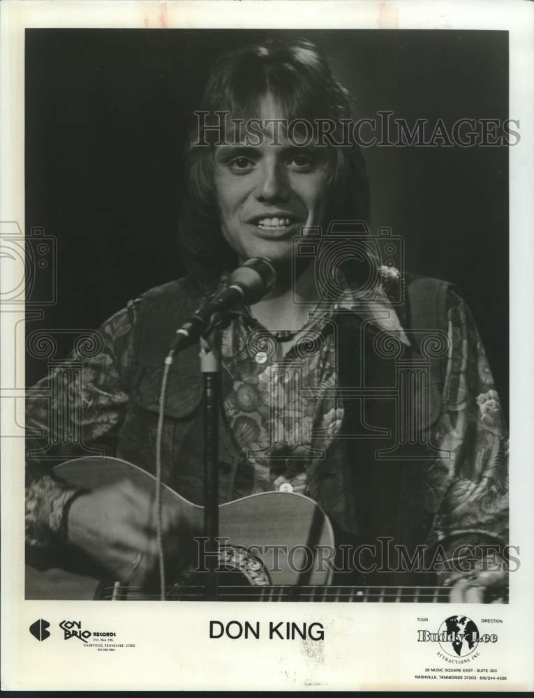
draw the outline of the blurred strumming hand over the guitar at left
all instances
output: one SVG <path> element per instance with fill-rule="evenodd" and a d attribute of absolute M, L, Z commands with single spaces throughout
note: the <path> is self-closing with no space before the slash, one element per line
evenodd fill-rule
<path fill-rule="evenodd" d="M 184 556 L 186 531 L 162 507 L 165 561 Z M 68 511 L 68 540 L 110 572 L 142 586 L 158 564 L 154 497 L 128 480 L 78 496 Z"/>

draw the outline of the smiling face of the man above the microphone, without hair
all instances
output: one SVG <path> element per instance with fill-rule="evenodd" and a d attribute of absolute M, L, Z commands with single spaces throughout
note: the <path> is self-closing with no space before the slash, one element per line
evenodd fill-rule
<path fill-rule="evenodd" d="M 261 111 L 262 119 L 283 118 L 269 98 Z M 258 147 L 216 147 L 216 199 L 223 236 L 241 260 L 267 257 L 287 265 L 302 226 L 322 223 L 327 154 L 325 148 L 295 147 L 283 133 L 279 144 L 272 140 L 271 128 Z"/>

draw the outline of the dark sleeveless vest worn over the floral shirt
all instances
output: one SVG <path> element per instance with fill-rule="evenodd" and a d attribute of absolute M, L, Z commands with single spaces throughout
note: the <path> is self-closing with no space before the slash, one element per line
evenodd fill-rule
<path fill-rule="evenodd" d="M 309 496 L 327 512 L 341 540 L 372 543 L 377 537 L 413 549 L 424 542 L 435 511 L 425 509 L 429 465 L 438 454 L 431 426 L 441 410 L 443 355 L 429 351 L 429 333 L 415 331 L 444 311 L 445 282 L 407 280 L 406 302 L 398 309 L 412 346 L 356 313 L 334 317 L 337 375 L 345 420 L 327 457 L 309 468 Z M 430 299 L 430 300 L 429 300 Z M 436 299 L 438 299 L 436 301 Z M 158 397 L 163 360 L 175 329 L 202 304 L 187 278 L 154 288 L 142 297 L 135 326 L 134 364 L 128 413 L 119 431 L 117 456 L 155 470 Z M 415 321 L 414 321 L 415 318 Z M 426 319 L 425 319 L 426 318 Z M 440 322 L 442 322 L 440 320 Z M 442 322 L 443 324 L 443 322 Z M 443 327 L 436 328 L 441 330 Z M 431 344 L 431 342 L 430 342 Z M 186 499 L 202 503 L 202 374 L 198 346 L 182 351 L 170 369 L 163 427 L 163 482 Z M 223 371 L 223 400 L 231 389 Z M 246 456 L 220 422 L 221 503 L 246 496 L 252 482 L 242 477 Z"/>

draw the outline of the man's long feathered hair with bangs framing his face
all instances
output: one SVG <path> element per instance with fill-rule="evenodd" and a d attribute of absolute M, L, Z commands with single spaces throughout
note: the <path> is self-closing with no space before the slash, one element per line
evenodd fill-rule
<path fill-rule="evenodd" d="M 212 67 L 199 111 L 210 115 L 230 112 L 232 119 L 258 117 L 260 103 L 267 94 L 281 105 L 288 121 L 332 121 L 336 125 L 335 142 L 341 138 L 343 120 L 353 120 L 350 94 L 335 80 L 316 45 L 304 38 L 269 39 L 224 54 Z M 207 118 L 204 123 L 210 126 L 212 121 Z M 179 249 L 189 276 L 209 286 L 221 272 L 237 265 L 237 255 L 225 242 L 218 218 L 214 139 L 209 128 L 205 133 L 198 131 L 195 121 L 184 157 Z M 350 134 L 351 129 L 345 131 Z M 369 182 L 362 152 L 350 141 L 342 147 L 327 147 L 329 191 L 325 221 L 367 221 Z"/>

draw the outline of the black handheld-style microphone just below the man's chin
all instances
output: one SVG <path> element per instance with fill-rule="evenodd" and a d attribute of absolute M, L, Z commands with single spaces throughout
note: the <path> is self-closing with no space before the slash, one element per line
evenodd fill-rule
<path fill-rule="evenodd" d="M 238 305 L 253 305 L 272 289 L 276 272 L 272 262 L 253 257 L 237 267 L 228 277 L 226 289 L 198 309 L 192 318 L 177 329 L 170 350 L 174 353 L 210 332 L 225 315 Z"/>

